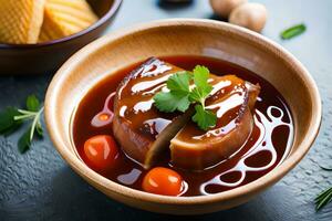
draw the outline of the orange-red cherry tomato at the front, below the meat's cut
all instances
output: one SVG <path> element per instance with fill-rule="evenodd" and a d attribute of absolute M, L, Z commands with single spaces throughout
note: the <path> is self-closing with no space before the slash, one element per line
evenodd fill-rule
<path fill-rule="evenodd" d="M 174 170 L 156 167 L 143 179 L 143 189 L 147 192 L 166 196 L 178 196 L 183 190 L 183 178 Z"/>

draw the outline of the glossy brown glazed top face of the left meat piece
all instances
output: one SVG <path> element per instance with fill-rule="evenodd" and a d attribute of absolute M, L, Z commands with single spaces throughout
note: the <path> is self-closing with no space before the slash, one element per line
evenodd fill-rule
<path fill-rule="evenodd" d="M 117 91 L 114 112 L 120 116 L 120 120 L 127 123 L 134 133 L 148 141 L 154 141 L 180 113 L 159 112 L 154 106 L 153 96 L 165 90 L 168 77 L 179 71 L 183 70 L 155 59 L 133 70 Z"/>

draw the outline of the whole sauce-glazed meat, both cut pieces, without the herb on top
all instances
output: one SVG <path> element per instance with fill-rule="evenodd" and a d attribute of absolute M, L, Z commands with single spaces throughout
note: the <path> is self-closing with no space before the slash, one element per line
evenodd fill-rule
<path fill-rule="evenodd" d="M 162 113 L 153 96 L 166 88 L 174 73 L 184 71 L 158 59 L 149 59 L 123 80 L 114 99 L 113 133 L 124 152 L 149 168 L 170 147 L 176 167 L 201 170 L 238 150 L 252 129 L 253 108 L 259 86 L 235 75 L 210 74 L 211 95 L 206 107 L 215 112 L 215 128 L 200 130 L 186 113 Z"/>

